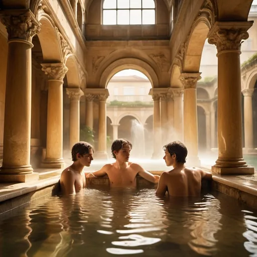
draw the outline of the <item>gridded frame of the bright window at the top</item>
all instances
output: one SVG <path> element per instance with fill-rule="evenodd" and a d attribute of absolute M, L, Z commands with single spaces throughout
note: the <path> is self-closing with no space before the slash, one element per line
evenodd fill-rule
<path fill-rule="evenodd" d="M 141 8 L 118 8 L 118 0 L 113 0 L 113 1 L 116 1 L 116 8 L 112 8 L 112 9 L 104 9 L 103 8 L 103 5 L 104 5 L 104 1 L 102 1 L 102 24 L 101 25 L 104 25 L 104 26 L 142 26 L 142 25 L 156 25 L 156 1 L 155 0 L 152 0 L 154 1 L 155 3 L 155 7 L 154 8 L 143 8 L 143 0 L 141 0 Z M 129 0 L 130 2 L 131 0 Z M 140 0 L 138 0 L 140 1 Z M 130 2 L 131 3 L 131 2 Z M 118 24 L 118 11 L 129 11 L 129 24 Z M 131 10 L 140 10 L 141 11 L 141 24 L 131 24 Z M 143 11 L 145 10 L 154 10 L 155 11 L 155 23 L 154 24 L 143 24 Z M 104 11 L 116 11 L 116 24 L 103 24 L 103 12 Z"/>

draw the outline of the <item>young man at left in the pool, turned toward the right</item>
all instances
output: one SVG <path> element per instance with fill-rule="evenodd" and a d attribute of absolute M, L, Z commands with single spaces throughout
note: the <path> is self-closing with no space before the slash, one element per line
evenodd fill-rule
<path fill-rule="evenodd" d="M 93 147 L 87 142 L 76 143 L 71 150 L 73 164 L 66 168 L 60 178 L 63 195 L 75 194 L 86 186 L 84 166 L 89 167 L 93 160 Z"/>

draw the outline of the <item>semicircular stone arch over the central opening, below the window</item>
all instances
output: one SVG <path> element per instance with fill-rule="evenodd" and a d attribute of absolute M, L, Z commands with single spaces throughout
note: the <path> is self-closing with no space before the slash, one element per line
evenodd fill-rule
<path fill-rule="evenodd" d="M 100 77 L 100 88 L 106 88 L 109 80 L 114 74 L 125 69 L 134 69 L 145 74 L 150 80 L 152 87 L 159 86 L 159 80 L 154 69 L 145 61 L 136 58 L 123 58 L 112 62 L 103 71 Z"/>

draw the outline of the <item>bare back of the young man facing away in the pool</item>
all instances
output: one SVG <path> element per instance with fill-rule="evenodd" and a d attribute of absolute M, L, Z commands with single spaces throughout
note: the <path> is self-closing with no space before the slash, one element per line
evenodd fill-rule
<path fill-rule="evenodd" d="M 163 172 L 156 194 L 165 195 L 168 191 L 169 196 L 198 196 L 201 192 L 202 173 L 199 168 L 187 167 Z"/>

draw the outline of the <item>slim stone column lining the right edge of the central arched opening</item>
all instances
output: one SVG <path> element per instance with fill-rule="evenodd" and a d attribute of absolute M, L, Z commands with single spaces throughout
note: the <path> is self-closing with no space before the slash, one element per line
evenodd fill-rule
<path fill-rule="evenodd" d="M 154 100 L 154 153 L 152 159 L 159 159 L 162 156 L 160 94 L 152 94 L 152 97 Z"/>

